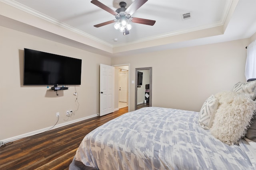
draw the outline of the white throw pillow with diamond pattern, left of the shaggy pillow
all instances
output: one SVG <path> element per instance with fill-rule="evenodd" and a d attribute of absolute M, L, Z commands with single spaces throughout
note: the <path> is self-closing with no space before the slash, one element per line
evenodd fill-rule
<path fill-rule="evenodd" d="M 199 114 L 199 119 L 198 119 L 198 124 L 204 128 L 204 129 L 210 129 L 212 127 L 212 121 L 214 119 L 214 113 L 216 109 L 218 108 L 218 99 L 214 96 L 211 95 L 203 104 L 200 114 Z"/>

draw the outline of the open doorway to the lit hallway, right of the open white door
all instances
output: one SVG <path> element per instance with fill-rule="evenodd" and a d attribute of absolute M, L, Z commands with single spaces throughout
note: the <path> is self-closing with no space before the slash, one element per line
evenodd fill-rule
<path fill-rule="evenodd" d="M 118 110 L 123 107 L 129 108 L 129 89 L 130 89 L 130 74 L 129 74 L 129 64 L 113 65 L 115 67 L 115 100 L 114 107 Z"/>

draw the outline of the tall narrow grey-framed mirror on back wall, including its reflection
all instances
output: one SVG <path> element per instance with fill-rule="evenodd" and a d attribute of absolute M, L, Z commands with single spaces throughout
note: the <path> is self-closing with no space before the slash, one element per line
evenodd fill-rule
<path fill-rule="evenodd" d="M 135 68 L 135 110 L 152 106 L 152 67 Z"/>

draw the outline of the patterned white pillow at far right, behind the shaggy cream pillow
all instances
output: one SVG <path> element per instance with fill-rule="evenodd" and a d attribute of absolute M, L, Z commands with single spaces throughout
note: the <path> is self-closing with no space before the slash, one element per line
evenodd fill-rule
<path fill-rule="evenodd" d="M 233 86 L 233 92 L 249 95 L 252 100 L 256 98 L 256 80 L 250 82 L 238 82 Z"/>

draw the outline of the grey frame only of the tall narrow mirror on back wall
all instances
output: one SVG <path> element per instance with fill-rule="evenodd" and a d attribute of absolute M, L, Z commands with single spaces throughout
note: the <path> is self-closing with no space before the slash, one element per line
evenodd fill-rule
<path fill-rule="evenodd" d="M 152 67 L 135 68 L 135 105 L 134 110 L 137 110 L 137 96 L 138 96 L 138 71 L 149 70 L 149 107 L 152 107 Z"/>

